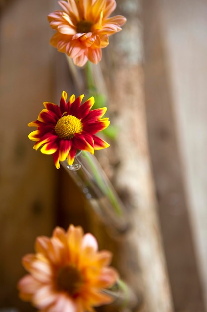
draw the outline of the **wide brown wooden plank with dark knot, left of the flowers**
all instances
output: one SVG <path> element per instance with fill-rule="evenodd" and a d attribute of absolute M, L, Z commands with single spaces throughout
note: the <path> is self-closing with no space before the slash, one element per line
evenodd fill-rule
<path fill-rule="evenodd" d="M 32 149 L 28 122 L 52 100 L 50 1 L 5 1 L 0 20 L 0 308 L 33 309 L 18 299 L 24 254 L 54 226 L 52 158 Z"/>

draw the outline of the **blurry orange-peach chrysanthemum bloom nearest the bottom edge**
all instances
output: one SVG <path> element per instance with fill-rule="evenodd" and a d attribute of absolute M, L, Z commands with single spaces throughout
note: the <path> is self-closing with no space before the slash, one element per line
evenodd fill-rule
<path fill-rule="evenodd" d="M 73 225 L 67 232 L 56 227 L 51 238 L 37 238 L 35 250 L 22 260 L 30 273 L 18 283 L 22 300 L 41 312 L 92 312 L 113 301 L 101 290 L 112 286 L 118 274 L 108 266 L 111 253 L 98 251 L 92 234 Z"/>

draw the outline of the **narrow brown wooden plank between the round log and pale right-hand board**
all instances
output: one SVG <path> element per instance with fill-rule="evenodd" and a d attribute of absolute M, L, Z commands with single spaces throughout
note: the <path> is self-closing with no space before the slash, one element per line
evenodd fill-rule
<path fill-rule="evenodd" d="M 178 140 L 181 137 L 176 136 L 177 116 L 174 115 L 176 97 L 172 93 L 170 71 L 172 67 L 169 64 L 169 59 L 173 55 L 171 50 L 165 49 L 168 41 L 166 27 L 173 27 L 173 22 L 175 27 L 178 27 L 176 16 L 180 16 L 181 12 L 177 9 L 177 15 L 174 15 L 175 19 L 171 20 L 171 24 L 162 23 L 159 14 L 161 2 L 143 1 L 145 94 L 150 151 L 175 310 L 203 312 L 205 308 L 201 281 L 178 147 Z M 165 6 L 172 5 L 175 8 L 176 2 L 165 1 Z M 185 23 L 185 20 L 183 22 Z M 180 83 L 182 84 L 181 81 Z"/>

